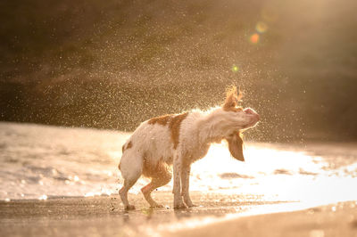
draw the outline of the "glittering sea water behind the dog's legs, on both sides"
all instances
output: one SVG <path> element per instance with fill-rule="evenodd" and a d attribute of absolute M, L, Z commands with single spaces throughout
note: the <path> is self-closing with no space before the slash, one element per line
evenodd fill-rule
<path fill-rule="evenodd" d="M 118 193 L 121 146 L 129 133 L 0 123 L 0 200 Z M 150 180 L 140 178 L 138 193 Z M 245 143 L 245 162 L 227 143 L 192 165 L 190 190 L 263 195 L 320 204 L 357 200 L 356 143 Z M 172 181 L 159 191 L 171 191 Z"/>

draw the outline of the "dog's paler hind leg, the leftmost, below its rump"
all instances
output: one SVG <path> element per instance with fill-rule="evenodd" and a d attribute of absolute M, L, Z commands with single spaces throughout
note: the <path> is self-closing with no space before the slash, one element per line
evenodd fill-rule
<path fill-rule="evenodd" d="M 129 189 L 137 183 L 143 170 L 143 159 L 138 154 L 128 155 L 125 153 L 120 160 L 121 176 L 124 179 L 124 185 L 119 191 L 120 199 L 126 210 L 135 209 L 134 205 L 129 204 Z"/>

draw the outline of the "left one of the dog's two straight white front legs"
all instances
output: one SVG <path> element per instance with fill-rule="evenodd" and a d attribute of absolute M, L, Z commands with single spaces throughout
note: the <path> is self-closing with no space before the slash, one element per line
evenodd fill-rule
<path fill-rule="evenodd" d="M 176 154 L 173 159 L 173 208 L 187 208 L 181 196 L 182 157 Z"/>

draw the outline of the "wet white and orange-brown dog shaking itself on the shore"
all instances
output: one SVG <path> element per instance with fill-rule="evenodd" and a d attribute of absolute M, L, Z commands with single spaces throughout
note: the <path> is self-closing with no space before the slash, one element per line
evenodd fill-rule
<path fill-rule="evenodd" d="M 188 192 L 190 167 L 207 154 L 211 143 L 227 140 L 230 154 L 244 161 L 242 133 L 254 127 L 260 118 L 253 109 L 238 106 L 241 97 L 234 86 L 223 105 L 210 111 L 192 110 L 141 123 L 122 146 L 119 169 L 124 184 L 119 194 L 124 208 L 135 209 L 129 204 L 128 192 L 141 175 L 151 178 L 141 189 L 145 200 L 151 208 L 162 208 L 153 200 L 151 192 L 170 182 L 171 166 L 173 207 L 194 207 Z"/>

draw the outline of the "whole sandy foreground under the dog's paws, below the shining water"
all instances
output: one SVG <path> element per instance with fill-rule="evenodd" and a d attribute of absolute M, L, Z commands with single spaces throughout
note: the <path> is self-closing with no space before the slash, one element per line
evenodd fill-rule
<path fill-rule="evenodd" d="M 299 203 L 224 192 L 193 192 L 196 208 L 174 210 L 170 192 L 156 192 L 167 208 L 126 212 L 118 196 L 0 202 L 1 236 L 357 236 L 357 203 L 291 210 Z M 247 216 L 247 217 L 244 217 Z M 321 235 L 322 234 L 322 235 Z"/>

